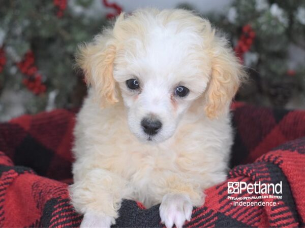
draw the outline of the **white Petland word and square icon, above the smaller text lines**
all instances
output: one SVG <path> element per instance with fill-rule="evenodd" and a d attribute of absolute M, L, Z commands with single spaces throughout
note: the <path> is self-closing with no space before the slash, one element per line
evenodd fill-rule
<path fill-rule="evenodd" d="M 228 182 L 228 194 L 241 194 L 243 191 L 249 194 L 282 194 L 282 181 L 277 184 L 260 181 L 255 181 L 254 184 L 243 181 Z"/>

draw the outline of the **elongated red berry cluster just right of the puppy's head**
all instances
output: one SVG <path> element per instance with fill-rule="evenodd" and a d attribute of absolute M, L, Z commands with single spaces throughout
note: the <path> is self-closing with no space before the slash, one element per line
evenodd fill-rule
<path fill-rule="evenodd" d="M 247 24 L 242 27 L 242 33 L 239 37 L 237 46 L 234 48 L 237 57 L 239 57 L 241 61 L 243 61 L 243 54 L 245 54 L 245 52 L 248 52 L 251 48 L 254 37 L 255 32 L 252 29 L 251 25 Z"/>

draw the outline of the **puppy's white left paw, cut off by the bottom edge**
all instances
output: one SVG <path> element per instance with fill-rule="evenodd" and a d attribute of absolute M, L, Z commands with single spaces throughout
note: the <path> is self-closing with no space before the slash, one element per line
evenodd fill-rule
<path fill-rule="evenodd" d="M 111 224 L 114 223 L 114 218 L 103 215 L 103 214 L 98 214 L 95 212 L 86 212 L 84 214 L 84 218 L 82 222 L 80 223 L 80 227 L 105 227 L 109 228 Z"/>

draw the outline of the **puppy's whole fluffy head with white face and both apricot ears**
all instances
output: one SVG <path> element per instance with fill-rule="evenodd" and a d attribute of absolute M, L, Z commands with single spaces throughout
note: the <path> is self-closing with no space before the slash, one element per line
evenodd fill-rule
<path fill-rule="evenodd" d="M 245 76 L 226 39 L 185 10 L 121 14 L 77 60 L 101 105 L 123 99 L 130 130 L 154 142 L 174 134 L 195 100 L 200 115 L 226 115 Z"/>

